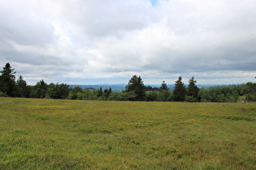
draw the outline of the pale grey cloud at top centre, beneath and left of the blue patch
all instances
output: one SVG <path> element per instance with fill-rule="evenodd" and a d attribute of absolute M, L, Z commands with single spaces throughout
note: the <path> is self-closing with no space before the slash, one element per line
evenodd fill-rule
<path fill-rule="evenodd" d="M 148 1 L 79 1 L 69 3 L 63 15 L 88 36 L 120 36 L 145 28 L 156 17 Z"/>

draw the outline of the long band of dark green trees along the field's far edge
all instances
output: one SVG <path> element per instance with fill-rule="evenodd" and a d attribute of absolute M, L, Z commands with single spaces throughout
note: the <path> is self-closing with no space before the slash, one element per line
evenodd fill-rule
<path fill-rule="evenodd" d="M 122 101 L 186 101 L 186 102 L 237 102 L 256 101 L 256 83 L 197 87 L 197 80 L 189 79 L 188 86 L 181 76 L 170 89 L 165 81 L 161 87 L 145 86 L 141 76 L 133 75 L 125 90 L 112 91 L 111 87 L 81 88 L 65 83 L 47 84 L 41 79 L 35 86 L 29 86 L 22 75 L 15 81 L 15 69 L 7 64 L 0 71 L 0 96 L 67 100 L 122 100 Z M 256 77 L 255 77 L 256 78 Z"/>

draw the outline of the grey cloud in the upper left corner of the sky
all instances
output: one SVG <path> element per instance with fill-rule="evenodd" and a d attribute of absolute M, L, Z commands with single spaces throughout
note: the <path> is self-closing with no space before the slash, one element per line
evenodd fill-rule
<path fill-rule="evenodd" d="M 28 7 L 2 5 L 0 20 L 2 40 L 23 45 L 46 45 L 54 40 L 52 24 Z"/>

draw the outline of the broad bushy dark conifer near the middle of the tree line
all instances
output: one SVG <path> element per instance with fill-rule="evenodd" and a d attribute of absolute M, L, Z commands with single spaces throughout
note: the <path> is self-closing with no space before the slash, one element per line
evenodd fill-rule
<path fill-rule="evenodd" d="M 130 98 L 130 100 L 145 100 L 145 85 L 141 79 L 141 76 L 137 77 L 137 75 L 133 75 L 126 86 L 126 91 L 133 91 L 136 95 L 134 98 Z"/>

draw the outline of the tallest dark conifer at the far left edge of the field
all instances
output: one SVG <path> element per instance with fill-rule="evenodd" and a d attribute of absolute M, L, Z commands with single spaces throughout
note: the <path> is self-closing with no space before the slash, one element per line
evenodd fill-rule
<path fill-rule="evenodd" d="M 8 96 L 16 96 L 15 69 L 11 68 L 11 64 L 7 62 L 6 66 L 0 71 L 0 91 Z"/>

